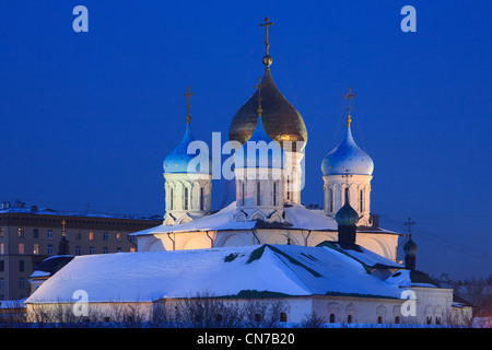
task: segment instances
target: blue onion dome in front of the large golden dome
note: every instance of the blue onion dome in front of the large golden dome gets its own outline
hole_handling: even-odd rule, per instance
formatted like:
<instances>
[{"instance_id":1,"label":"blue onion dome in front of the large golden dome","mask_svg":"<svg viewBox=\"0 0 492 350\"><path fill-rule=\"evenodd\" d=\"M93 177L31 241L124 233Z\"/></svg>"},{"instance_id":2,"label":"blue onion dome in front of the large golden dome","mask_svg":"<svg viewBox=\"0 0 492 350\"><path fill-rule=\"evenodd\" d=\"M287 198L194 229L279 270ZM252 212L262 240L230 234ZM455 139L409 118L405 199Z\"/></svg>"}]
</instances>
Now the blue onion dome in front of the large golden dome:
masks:
<instances>
[{"instance_id":1,"label":"blue onion dome in front of the large golden dome","mask_svg":"<svg viewBox=\"0 0 492 350\"><path fill-rule=\"evenodd\" d=\"M251 137L234 153L235 167L283 168L284 151L265 131L262 117L257 119Z\"/></svg>"}]
</instances>

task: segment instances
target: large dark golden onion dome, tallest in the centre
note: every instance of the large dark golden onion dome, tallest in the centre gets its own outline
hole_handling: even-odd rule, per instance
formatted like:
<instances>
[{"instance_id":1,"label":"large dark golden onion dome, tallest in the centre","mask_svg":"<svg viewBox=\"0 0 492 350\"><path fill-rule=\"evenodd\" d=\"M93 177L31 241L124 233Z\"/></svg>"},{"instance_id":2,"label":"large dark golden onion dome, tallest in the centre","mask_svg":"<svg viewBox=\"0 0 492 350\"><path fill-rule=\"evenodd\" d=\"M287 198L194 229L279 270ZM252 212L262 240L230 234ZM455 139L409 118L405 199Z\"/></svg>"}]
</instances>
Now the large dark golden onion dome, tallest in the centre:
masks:
<instances>
[{"instance_id":1,"label":"large dark golden onion dome, tallest in the centre","mask_svg":"<svg viewBox=\"0 0 492 350\"><path fill-rule=\"evenodd\" d=\"M279 141L285 151L302 151L307 142L307 130L303 117L277 89L269 65L266 66L261 81L261 116L265 130L272 140ZM245 143L255 131L257 120L258 91L237 110L231 122L229 139ZM296 144L297 141L302 144Z\"/></svg>"}]
</instances>

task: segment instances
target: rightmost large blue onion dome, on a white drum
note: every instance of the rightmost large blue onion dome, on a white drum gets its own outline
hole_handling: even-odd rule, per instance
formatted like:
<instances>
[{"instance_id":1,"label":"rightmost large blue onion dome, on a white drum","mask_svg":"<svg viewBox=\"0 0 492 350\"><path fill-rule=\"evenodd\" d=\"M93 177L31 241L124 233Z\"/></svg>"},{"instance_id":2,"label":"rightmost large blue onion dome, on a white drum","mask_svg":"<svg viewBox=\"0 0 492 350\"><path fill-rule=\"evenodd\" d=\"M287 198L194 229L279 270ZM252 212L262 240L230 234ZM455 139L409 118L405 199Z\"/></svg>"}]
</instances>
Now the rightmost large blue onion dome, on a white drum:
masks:
<instances>
[{"instance_id":1,"label":"rightmost large blue onion dome, on a white drum","mask_svg":"<svg viewBox=\"0 0 492 350\"><path fill-rule=\"evenodd\" d=\"M323 175L372 175L374 162L353 140L350 126L343 141L323 160Z\"/></svg>"}]
</instances>

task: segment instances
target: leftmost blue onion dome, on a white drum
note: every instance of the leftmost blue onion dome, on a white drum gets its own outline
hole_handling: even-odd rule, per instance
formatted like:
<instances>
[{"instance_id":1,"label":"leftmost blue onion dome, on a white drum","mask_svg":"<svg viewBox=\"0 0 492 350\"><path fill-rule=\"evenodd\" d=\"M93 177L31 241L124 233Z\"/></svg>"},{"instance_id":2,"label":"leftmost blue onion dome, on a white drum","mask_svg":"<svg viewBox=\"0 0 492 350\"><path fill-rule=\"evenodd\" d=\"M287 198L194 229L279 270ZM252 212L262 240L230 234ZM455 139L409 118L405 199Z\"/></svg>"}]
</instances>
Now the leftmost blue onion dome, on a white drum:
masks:
<instances>
[{"instance_id":1,"label":"leftmost blue onion dome, on a white drum","mask_svg":"<svg viewBox=\"0 0 492 350\"><path fill-rule=\"evenodd\" d=\"M183 137L181 142L164 159L163 167L165 174L181 174L188 173L188 164L189 162L197 156L197 154L191 153L188 154L188 145L195 141L195 138L191 133L191 128L189 122L186 125L185 135ZM191 173L197 174L211 174L212 173L212 160L209 156L209 168L201 171L200 163L197 162L197 165Z\"/></svg>"}]
</instances>

